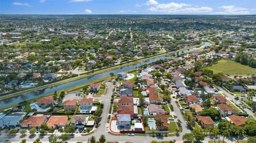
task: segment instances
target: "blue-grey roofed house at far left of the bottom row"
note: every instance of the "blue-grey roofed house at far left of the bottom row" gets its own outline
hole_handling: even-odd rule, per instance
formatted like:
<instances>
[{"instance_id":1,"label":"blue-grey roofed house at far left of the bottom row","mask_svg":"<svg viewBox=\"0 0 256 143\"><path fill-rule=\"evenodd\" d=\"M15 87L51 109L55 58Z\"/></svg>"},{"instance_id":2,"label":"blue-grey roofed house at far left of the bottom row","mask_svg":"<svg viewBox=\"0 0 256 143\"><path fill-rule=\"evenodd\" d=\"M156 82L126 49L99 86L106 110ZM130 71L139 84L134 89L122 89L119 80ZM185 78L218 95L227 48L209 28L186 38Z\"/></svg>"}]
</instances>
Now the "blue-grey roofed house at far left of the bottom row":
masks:
<instances>
[{"instance_id":1,"label":"blue-grey roofed house at far left of the bottom row","mask_svg":"<svg viewBox=\"0 0 256 143\"><path fill-rule=\"evenodd\" d=\"M16 112L16 113L3 116L0 119L0 128L3 129L5 127L9 127L9 128L17 127L25 115L26 113Z\"/></svg>"}]
</instances>

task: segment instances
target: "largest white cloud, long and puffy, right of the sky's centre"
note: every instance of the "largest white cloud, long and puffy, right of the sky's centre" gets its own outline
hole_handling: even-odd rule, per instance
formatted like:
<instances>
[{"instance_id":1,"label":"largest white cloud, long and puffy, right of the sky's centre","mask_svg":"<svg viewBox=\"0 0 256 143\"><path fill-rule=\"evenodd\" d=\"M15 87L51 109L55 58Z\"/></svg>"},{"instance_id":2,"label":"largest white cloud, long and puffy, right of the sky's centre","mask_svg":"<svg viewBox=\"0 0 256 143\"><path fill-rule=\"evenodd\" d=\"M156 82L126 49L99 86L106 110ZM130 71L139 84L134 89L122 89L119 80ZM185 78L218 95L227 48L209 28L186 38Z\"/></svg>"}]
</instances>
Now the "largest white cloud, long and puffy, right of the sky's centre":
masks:
<instances>
[{"instance_id":1,"label":"largest white cloud, long and puffy, right of the sky's centre","mask_svg":"<svg viewBox=\"0 0 256 143\"><path fill-rule=\"evenodd\" d=\"M211 12L213 9L206 6L196 6L191 7L189 4L185 3L167 3L167 4L157 4L153 7L147 9L152 12L165 12L165 13L202 13L202 12Z\"/></svg>"}]
</instances>

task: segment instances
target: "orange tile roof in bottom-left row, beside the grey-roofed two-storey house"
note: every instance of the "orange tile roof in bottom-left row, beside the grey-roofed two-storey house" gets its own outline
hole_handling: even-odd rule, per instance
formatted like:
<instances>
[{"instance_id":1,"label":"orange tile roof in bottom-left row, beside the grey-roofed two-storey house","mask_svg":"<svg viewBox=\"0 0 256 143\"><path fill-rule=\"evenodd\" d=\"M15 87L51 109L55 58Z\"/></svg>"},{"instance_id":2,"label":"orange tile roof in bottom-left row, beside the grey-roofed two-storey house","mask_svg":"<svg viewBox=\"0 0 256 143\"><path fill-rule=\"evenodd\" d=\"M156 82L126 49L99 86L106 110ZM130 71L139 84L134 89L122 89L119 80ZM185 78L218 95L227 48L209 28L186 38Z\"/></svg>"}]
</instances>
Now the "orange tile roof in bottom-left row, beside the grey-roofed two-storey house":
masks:
<instances>
[{"instance_id":1,"label":"orange tile roof in bottom-left row, beside the grey-roofed two-storey house","mask_svg":"<svg viewBox=\"0 0 256 143\"><path fill-rule=\"evenodd\" d=\"M66 125L68 123L68 116L51 116L46 122L48 127L55 127L55 125Z\"/></svg>"}]
</instances>

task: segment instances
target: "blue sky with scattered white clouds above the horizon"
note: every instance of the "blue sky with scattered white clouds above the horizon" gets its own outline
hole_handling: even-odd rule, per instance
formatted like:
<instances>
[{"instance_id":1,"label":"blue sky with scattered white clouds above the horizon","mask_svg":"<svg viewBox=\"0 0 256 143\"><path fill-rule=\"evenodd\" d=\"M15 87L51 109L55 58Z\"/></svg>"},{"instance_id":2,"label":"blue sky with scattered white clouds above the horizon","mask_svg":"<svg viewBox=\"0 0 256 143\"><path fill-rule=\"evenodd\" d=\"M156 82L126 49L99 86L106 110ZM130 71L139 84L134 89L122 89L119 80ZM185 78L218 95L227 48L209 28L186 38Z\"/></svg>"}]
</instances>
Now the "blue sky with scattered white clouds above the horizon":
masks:
<instances>
[{"instance_id":1,"label":"blue sky with scattered white clouds above the horizon","mask_svg":"<svg viewBox=\"0 0 256 143\"><path fill-rule=\"evenodd\" d=\"M256 14L256 0L0 0L0 14Z\"/></svg>"}]
</instances>

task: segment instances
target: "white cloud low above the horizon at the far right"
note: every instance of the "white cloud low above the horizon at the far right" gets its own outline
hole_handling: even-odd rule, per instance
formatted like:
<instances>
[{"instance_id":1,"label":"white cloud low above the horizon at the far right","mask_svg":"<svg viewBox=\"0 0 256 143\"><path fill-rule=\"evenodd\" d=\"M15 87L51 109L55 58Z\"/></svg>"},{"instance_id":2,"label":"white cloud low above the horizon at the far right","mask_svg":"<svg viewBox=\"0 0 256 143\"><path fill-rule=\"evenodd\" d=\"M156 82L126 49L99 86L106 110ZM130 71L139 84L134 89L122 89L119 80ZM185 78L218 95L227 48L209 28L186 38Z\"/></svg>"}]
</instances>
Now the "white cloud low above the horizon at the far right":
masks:
<instances>
[{"instance_id":1,"label":"white cloud low above the horizon at the far right","mask_svg":"<svg viewBox=\"0 0 256 143\"><path fill-rule=\"evenodd\" d=\"M250 14L249 9L242 7L235 7L234 5L222 5L218 7L223 9L223 12L215 12L215 14Z\"/></svg>"}]
</instances>

